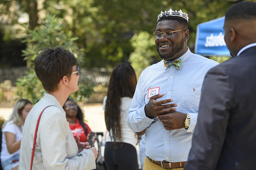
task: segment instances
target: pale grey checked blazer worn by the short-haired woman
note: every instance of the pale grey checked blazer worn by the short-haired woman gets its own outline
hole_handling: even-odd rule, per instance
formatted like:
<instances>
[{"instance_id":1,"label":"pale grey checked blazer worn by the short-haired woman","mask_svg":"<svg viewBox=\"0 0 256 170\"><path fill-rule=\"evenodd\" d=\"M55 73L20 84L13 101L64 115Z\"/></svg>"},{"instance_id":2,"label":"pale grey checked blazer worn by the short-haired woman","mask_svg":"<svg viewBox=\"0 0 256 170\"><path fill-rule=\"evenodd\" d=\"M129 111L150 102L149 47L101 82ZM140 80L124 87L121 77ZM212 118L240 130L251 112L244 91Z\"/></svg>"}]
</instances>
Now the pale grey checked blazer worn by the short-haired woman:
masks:
<instances>
[{"instance_id":1,"label":"pale grey checked blazer worn by the short-haired woman","mask_svg":"<svg viewBox=\"0 0 256 170\"><path fill-rule=\"evenodd\" d=\"M44 93L44 97L29 112L23 127L19 170L30 169L36 123L46 106L51 107L44 110L39 122L32 169L95 169L94 153L88 149L78 153L65 111L55 97Z\"/></svg>"}]
</instances>

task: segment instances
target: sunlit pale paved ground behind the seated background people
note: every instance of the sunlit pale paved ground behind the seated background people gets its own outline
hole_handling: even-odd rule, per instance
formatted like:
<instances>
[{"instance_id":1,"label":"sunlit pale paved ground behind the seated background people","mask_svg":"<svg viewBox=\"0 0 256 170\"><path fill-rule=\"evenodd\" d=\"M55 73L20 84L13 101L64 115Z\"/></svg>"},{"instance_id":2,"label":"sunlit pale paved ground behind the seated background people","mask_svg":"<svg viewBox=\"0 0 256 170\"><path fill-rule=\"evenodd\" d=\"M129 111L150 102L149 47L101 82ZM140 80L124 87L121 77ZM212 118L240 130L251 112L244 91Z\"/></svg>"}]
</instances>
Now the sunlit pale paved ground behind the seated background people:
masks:
<instances>
[{"instance_id":1,"label":"sunlit pale paved ground behind the seated background people","mask_svg":"<svg viewBox=\"0 0 256 170\"><path fill-rule=\"evenodd\" d=\"M82 109L84 110L86 123L93 132L107 131L102 104L90 104L82 107ZM0 108L0 116L3 116L4 120L8 120L11 113L12 108Z\"/></svg>"}]
</instances>

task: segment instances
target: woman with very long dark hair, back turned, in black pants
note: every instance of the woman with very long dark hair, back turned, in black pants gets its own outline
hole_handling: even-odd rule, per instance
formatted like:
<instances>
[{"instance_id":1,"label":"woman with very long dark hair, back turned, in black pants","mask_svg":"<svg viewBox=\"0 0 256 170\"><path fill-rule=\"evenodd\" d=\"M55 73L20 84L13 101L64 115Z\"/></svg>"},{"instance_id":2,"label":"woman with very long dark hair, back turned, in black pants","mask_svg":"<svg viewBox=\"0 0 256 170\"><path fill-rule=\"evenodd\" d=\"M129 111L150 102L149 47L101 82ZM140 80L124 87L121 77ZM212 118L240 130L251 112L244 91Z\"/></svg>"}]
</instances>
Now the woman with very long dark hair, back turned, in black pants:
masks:
<instances>
[{"instance_id":1,"label":"woman with very long dark hair, back turned, in black pants","mask_svg":"<svg viewBox=\"0 0 256 170\"><path fill-rule=\"evenodd\" d=\"M128 63L117 65L111 73L108 94L103 101L109 131L104 152L108 170L138 169L137 137L126 121L136 84L136 74Z\"/></svg>"}]
</instances>

